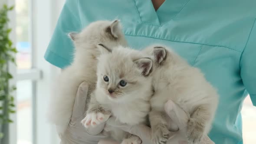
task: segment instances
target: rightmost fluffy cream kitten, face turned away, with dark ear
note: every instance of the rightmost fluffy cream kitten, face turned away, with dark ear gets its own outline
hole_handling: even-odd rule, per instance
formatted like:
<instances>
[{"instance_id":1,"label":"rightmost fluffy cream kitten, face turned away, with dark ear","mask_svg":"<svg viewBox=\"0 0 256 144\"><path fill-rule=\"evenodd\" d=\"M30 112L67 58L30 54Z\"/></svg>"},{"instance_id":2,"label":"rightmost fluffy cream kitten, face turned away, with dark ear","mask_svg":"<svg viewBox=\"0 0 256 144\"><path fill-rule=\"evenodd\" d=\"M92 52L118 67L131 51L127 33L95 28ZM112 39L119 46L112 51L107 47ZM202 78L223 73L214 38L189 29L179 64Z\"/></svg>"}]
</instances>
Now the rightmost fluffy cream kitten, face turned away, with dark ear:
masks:
<instances>
[{"instance_id":1,"label":"rightmost fluffy cream kitten, face turned away, with dark ear","mask_svg":"<svg viewBox=\"0 0 256 144\"><path fill-rule=\"evenodd\" d=\"M177 103L190 117L187 124L187 137L197 143L210 131L217 109L218 95L204 78L199 69L190 66L184 59L169 48L150 46L144 52L153 56L154 95L151 98L149 120L152 140L155 144L165 144L170 131L175 131L171 119L164 111L168 100Z\"/></svg>"}]
</instances>

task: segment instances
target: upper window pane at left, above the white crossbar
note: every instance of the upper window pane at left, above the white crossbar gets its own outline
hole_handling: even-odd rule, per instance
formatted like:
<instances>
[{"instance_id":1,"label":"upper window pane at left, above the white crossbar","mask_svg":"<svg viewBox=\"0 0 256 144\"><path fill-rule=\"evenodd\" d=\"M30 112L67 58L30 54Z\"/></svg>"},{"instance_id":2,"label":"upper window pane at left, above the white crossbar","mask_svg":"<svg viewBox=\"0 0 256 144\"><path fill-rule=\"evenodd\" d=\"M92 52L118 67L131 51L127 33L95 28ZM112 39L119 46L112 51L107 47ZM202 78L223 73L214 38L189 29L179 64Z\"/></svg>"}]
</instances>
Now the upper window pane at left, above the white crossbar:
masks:
<instances>
[{"instance_id":1,"label":"upper window pane at left, above the white crossbar","mask_svg":"<svg viewBox=\"0 0 256 144\"><path fill-rule=\"evenodd\" d=\"M18 69L31 68L31 46L29 42L29 0L16 0L16 62Z\"/></svg>"}]
</instances>

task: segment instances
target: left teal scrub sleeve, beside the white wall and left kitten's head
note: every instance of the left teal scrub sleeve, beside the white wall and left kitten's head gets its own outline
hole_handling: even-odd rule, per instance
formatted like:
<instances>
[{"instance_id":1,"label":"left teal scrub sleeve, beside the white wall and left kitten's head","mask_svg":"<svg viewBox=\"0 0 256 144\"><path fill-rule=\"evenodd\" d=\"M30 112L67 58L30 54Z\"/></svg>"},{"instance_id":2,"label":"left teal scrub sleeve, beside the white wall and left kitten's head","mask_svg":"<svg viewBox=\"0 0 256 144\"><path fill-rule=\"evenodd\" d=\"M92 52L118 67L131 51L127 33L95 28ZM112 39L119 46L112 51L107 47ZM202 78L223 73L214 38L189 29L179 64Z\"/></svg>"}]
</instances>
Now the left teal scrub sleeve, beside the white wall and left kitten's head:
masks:
<instances>
[{"instance_id":1,"label":"left teal scrub sleeve, beside the white wall and left kitten's head","mask_svg":"<svg viewBox=\"0 0 256 144\"><path fill-rule=\"evenodd\" d=\"M66 0L44 58L62 69L70 65L74 46L68 34L81 28L78 0Z\"/></svg>"}]
</instances>

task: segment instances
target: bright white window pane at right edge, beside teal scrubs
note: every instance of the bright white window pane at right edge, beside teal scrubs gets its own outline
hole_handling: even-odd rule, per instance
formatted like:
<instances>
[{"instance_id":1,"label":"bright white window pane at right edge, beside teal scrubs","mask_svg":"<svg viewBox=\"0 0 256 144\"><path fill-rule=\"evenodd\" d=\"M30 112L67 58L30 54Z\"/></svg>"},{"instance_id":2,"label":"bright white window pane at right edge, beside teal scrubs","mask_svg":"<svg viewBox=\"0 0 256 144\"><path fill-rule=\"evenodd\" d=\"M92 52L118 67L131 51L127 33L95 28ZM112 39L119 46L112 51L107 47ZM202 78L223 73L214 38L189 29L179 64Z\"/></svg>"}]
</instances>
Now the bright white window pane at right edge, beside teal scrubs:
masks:
<instances>
[{"instance_id":1,"label":"bright white window pane at right edge, beside teal scrubs","mask_svg":"<svg viewBox=\"0 0 256 144\"><path fill-rule=\"evenodd\" d=\"M253 106L249 96L247 96L242 108L243 118L243 143L255 144L256 142L256 107Z\"/></svg>"}]
</instances>

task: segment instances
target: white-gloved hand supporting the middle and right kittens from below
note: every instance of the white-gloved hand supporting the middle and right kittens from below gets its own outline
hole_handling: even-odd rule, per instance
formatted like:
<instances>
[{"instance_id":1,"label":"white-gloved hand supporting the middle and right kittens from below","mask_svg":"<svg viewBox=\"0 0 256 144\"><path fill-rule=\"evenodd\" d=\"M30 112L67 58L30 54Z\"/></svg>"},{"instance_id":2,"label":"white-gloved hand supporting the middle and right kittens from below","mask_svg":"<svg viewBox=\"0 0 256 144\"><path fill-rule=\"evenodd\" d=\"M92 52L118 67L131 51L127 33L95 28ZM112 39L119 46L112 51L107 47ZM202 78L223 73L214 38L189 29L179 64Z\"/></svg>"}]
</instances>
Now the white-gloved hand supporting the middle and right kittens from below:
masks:
<instances>
[{"instance_id":1,"label":"white-gloved hand supporting the middle and right kittens from below","mask_svg":"<svg viewBox=\"0 0 256 144\"><path fill-rule=\"evenodd\" d=\"M167 144L188 144L186 136L188 116L185 111L171 100L165 104L165 111L170 116L171 120L175 124L177 124L179 128L179 131L172 132L172 136L170 137L170 140L167 141ZM140 124L130 126L127 124L121 124L119 121L116 121L116 118L111 117L106 122L106 126L121 128L124 131L135 134L141 138L142 144L153 144L151 142L151 128L145 125ZM203 137L203 140L200 144L215 143L211 141L210 138L206 135L205 137Z\"/></svg>"}]
</instances>

